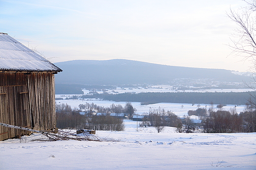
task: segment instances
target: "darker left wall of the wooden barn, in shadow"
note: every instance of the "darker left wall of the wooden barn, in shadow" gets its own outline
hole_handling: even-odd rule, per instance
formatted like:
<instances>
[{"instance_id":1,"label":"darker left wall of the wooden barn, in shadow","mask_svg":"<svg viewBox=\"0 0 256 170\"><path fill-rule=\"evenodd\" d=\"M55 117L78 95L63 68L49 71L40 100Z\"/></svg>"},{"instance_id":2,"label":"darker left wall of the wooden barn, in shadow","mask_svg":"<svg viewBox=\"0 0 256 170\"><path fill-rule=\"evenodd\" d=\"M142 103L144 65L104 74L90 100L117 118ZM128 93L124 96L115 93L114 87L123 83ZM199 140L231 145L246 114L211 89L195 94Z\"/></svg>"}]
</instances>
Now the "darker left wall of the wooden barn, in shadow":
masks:
<instances>
[{"instance_id":1,"label":"darker left wall of the wooden barn, in shadow","mask_svg":"<svg viewBox=\"0 0 256 170\"><path fill-rule=\"evenodd\" d=\"M0 73L0 122L31 128L27 75L24 73ZM0 126L0 140L28 131Z\"/></svg>"}]
</instances>

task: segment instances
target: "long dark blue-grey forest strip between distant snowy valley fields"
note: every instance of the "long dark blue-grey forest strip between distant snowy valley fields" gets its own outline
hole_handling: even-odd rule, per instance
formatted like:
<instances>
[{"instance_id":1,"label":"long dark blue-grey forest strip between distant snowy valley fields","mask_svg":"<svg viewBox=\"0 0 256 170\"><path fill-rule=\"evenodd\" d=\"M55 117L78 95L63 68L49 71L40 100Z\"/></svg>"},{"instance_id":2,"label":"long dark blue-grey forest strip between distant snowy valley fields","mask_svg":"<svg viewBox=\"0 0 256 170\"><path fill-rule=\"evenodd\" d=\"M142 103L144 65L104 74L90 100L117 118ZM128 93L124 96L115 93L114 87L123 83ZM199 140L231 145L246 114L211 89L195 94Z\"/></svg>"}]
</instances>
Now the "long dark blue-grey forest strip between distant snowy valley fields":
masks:
<instances>
[{"instance_id":1,"label":"long dark blue-grey forest strip between distant snowy valley fields","mask_svg":"<svg viewBox=\"0 0 256 170\"><path fill-rule=\"evenodd\" d=\"M160 102L169 103L205 103L210 104L236 104L242 105L250 98L250 94L247 92L215 92L215 93L186 93L186 92L167 92L167 93L123 93L123 94L94 94L84 95L82 98L103 98L104 100L112 101L129 101L129 102L141 102L141 104L154 104Z\"/></svg>"}]
</instances>

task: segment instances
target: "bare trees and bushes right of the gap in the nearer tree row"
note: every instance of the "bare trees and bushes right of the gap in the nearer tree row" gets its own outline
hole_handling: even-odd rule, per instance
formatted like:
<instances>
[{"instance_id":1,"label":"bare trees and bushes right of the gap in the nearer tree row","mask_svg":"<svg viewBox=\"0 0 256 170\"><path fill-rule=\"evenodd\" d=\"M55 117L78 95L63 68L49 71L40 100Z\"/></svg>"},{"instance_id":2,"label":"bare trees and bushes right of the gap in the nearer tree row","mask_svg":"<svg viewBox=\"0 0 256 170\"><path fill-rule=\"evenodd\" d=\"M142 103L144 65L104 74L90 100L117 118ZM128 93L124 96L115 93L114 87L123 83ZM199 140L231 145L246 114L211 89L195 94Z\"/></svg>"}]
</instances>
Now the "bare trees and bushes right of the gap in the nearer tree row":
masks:
<instances>
[{"instance_id":1,"label":"bare trees and bushes right of the gap in the nearer tree row","mask_svg":"<svg viewBox=\"0 0 256 170\"><path fill-rule=\"evenodd\" d=\"M237 113L236 107L226 111L224 105L218 106L214 108L211 104L208 110L198 106L196 110L189 110L188 116L183 118L171 111L150 108L140 126L154 126L158 133L165 126L176 127L179 133L193 133L196 129L205 133L256 132L256 108L253 105L246 104L245 110L240 113ZM190 116L198 116L201 123L195 125Z\"/></svg>"}]
</instances>

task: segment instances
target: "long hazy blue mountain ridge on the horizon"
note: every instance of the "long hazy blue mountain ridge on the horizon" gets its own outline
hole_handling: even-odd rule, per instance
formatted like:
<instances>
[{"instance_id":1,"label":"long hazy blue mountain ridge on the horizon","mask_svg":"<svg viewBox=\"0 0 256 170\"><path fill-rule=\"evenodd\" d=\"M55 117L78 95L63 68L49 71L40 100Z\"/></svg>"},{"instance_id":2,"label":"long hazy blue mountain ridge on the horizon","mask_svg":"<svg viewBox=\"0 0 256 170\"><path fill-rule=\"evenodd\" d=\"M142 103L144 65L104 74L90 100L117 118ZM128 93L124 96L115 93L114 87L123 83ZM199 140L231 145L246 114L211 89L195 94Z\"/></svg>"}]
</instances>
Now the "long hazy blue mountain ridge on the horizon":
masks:
<instances>
[{"instance_id":1,"label":"long hazy blue mountain ridge on the horizon","mask_svg":"<svg viewBox=\"0 0 256 170\"><path fill-rule=\"evenodd\" d=\"M250 78L224 69L167 66L126 59L72 60L55 63L63 70L56 83L84 85L169 84L177 78L243 82Z\"/></svg>"}]
</instances>

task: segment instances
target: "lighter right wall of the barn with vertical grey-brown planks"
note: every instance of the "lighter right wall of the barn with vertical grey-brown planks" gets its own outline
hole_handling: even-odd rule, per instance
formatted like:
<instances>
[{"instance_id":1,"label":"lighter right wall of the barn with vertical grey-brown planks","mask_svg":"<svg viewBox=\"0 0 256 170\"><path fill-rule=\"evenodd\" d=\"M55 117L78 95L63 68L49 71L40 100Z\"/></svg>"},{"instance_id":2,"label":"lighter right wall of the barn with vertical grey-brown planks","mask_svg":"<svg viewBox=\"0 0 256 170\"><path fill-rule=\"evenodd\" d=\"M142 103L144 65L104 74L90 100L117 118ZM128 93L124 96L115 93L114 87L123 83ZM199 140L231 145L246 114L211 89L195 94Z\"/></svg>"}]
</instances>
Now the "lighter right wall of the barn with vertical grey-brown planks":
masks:
<instances>
[{"instance_id":1,"label":"lighter right wall of the barn with vertical grey-brown planks","mask_svg":"<svg viewBox=\"0 0 256 170\"><path fill-rule=\"evenodd\" d=\"M48 130L56 125L55 86L53 73L28 75L32 126L35 130Z\"/></svg>"}]
</instances>

